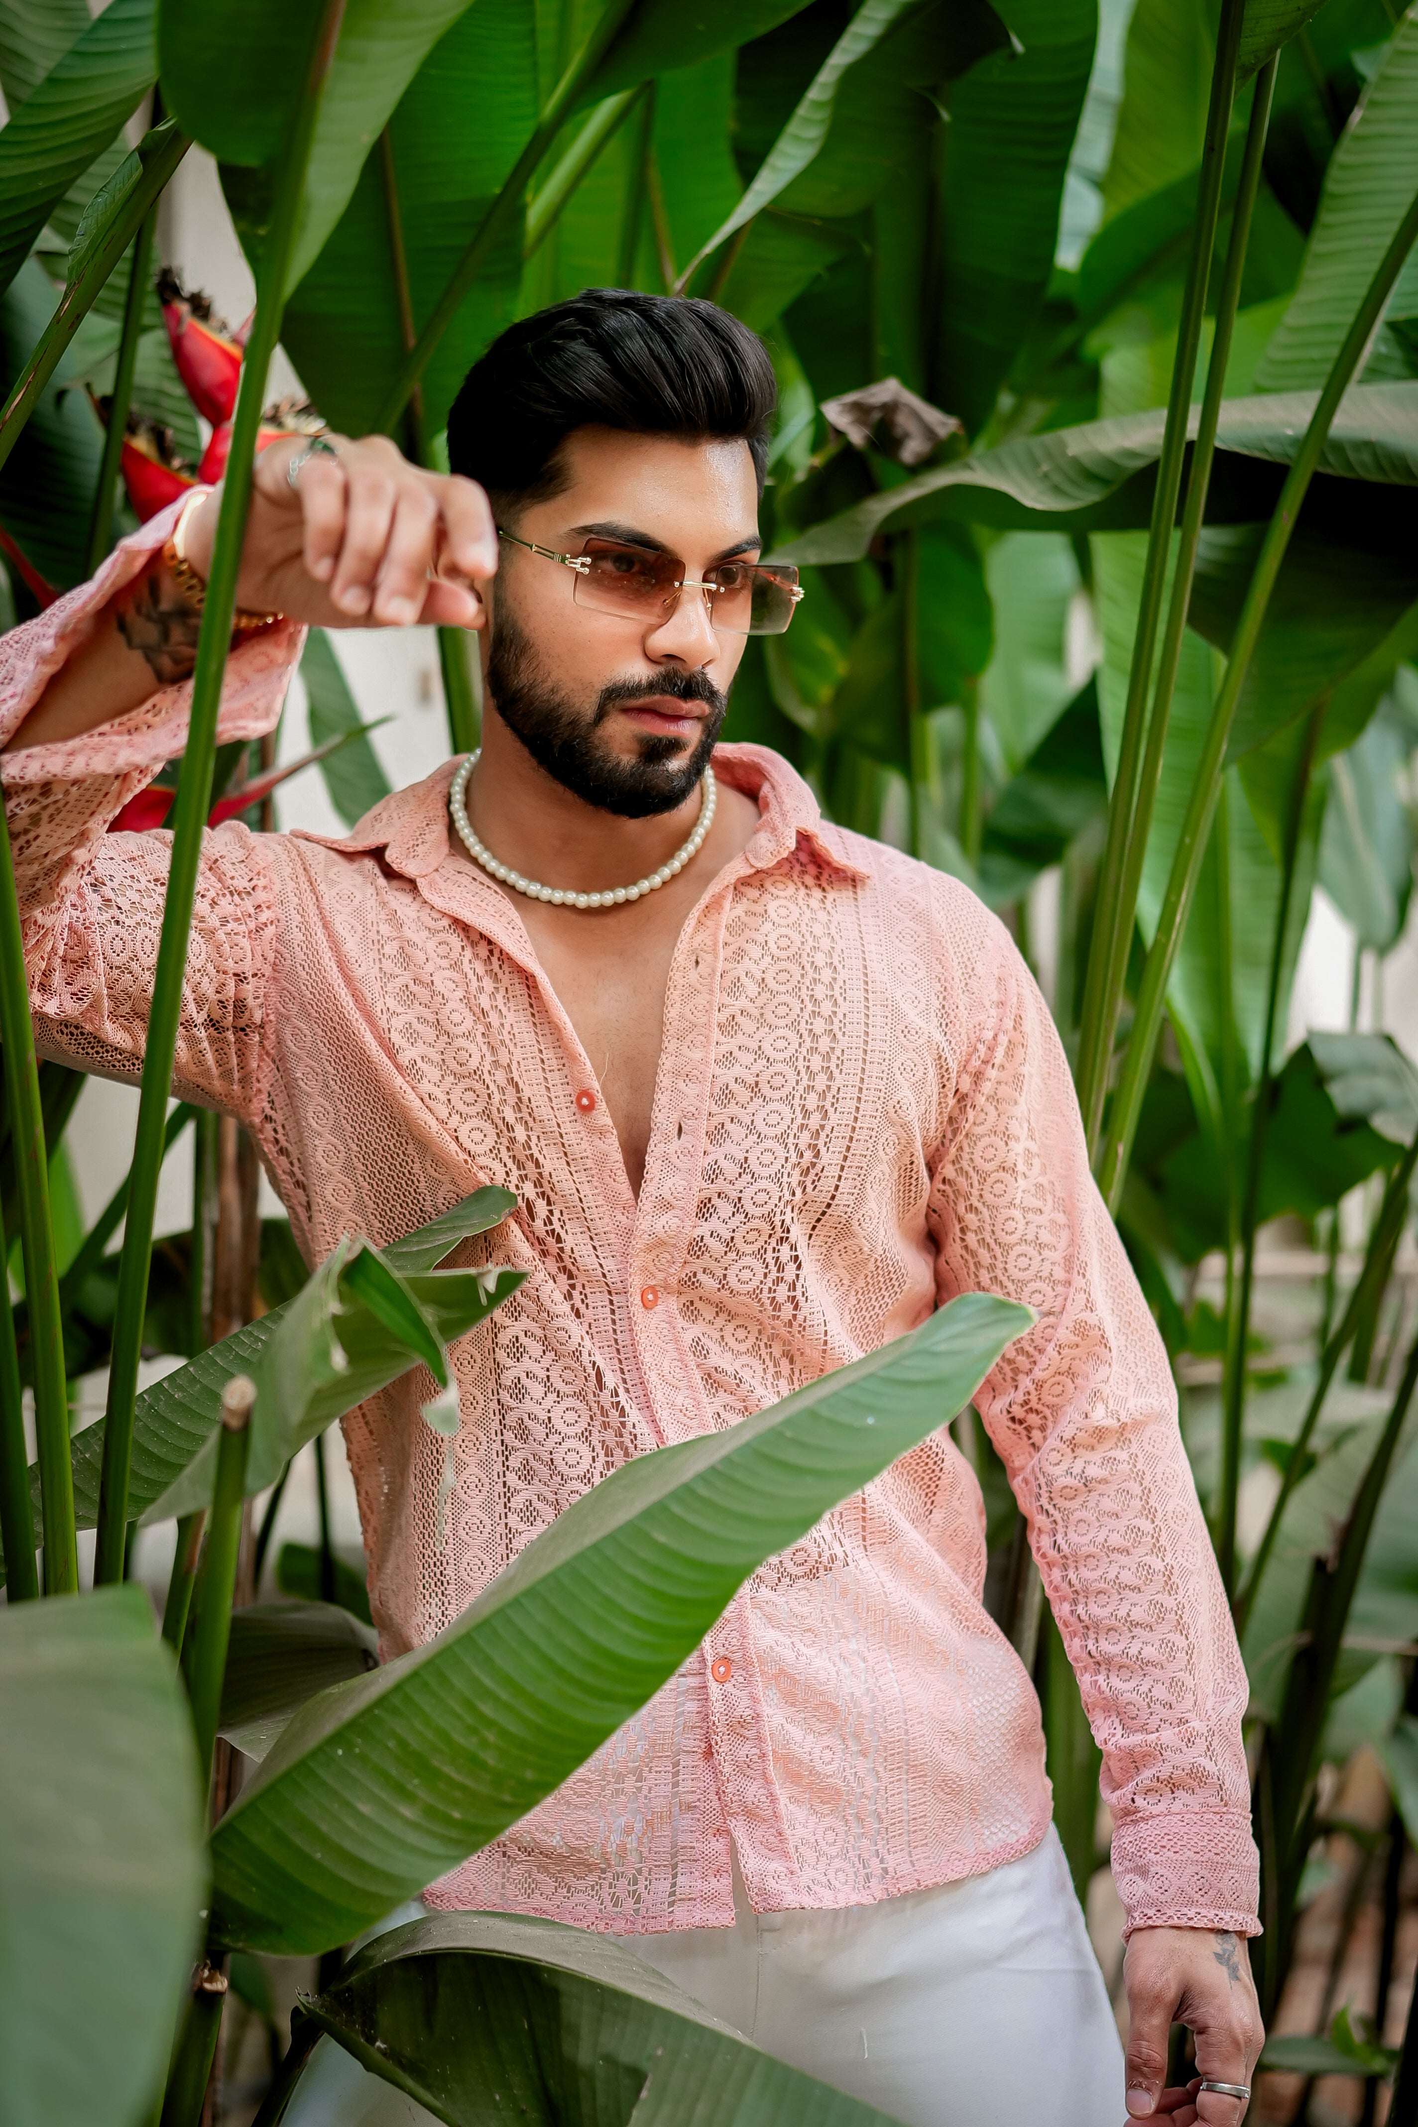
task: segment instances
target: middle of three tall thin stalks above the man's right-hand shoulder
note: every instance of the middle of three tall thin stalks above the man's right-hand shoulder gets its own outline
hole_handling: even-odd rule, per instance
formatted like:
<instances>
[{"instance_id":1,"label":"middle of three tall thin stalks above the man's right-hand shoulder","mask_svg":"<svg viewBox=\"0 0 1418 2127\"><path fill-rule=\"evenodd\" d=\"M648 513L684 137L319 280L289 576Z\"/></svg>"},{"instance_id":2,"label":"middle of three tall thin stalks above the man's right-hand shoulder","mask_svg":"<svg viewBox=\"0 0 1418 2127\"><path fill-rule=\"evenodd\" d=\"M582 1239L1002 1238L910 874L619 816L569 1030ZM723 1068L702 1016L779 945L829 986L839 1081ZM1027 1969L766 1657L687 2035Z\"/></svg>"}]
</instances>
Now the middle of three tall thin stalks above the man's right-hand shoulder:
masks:
<instances>
[{"instance_id":1,"label":"middle of three tall thin stalks above the man's right-hand shoulder","mask_svg":"<svg viewBox=\"0 0 1418 2127\"><path fill-rule=\"evenodd\" d=\"M1261 162L1265 155L1265 134L1269 128L1271 98L1276 94L1278 62L1280 53L1273 53L1273 57L1267 60L1267 64L1261 68L1256 77L1254 102L1250 106L1250 125L1246 130L1246 153L1242 160L1242 177L1235 194L1235 213L1231 217L1227 270L1222 274L1220 298L1216 304L1216 334L1212 338L1212 359L1205 372L1205 393L1201 400L1201 415L1197 421L1197 442L1193 447L1191 474L1186 479L1186 504L1182 508L1182 532L1178 538L1176 568L1171 574L1171 604L1167 608L1167 630L1163 634L1163 651L1157 670L1152 717L1148 721L1148 740L1142 757L1142 770L1137 774L1133 817L1127 825L1127 838L1122 847L1122 878L1116 887L1118 895L1116 908L1112 912L1110 929L1103 940L1108 947L1105 991L1099 1006L1101 1017L1093 1027L1093 1038L1097 1042L1103 1066L1112 1057L1112 1042L1118 1029L1118 1012L1122 1008L1122 985L1127 981L1127 957L1133 942L1133 923L1137 919L1137 895L1142 891L1142 868L1148 855L1148 834L1152 832L1152 808L1157 804L1157 791L1163 778L1163 755L1167 751L1171 698L1176 693L1178 670L1182 666L1186 615L1191 610L1191 591L1197 574L1197 549L1201 545L1205 498L1212 485L1212 462L1216 457L1216 430L1220 425L1220 406L1227 396L1227 364L1231 359L1235 313L1242 300L1242 274L1246 270L1250 217L1254 213L1256 191L1261 185ZM1112 834L1112 819L1108 821L1108 827ZM1088 974L1093 974L1093 961L1088 961ZM1097 1136L1097 1125L1091 1132L1091 1142L1095 1140L1095 1136Z\"/></svg>"}]
</instances>

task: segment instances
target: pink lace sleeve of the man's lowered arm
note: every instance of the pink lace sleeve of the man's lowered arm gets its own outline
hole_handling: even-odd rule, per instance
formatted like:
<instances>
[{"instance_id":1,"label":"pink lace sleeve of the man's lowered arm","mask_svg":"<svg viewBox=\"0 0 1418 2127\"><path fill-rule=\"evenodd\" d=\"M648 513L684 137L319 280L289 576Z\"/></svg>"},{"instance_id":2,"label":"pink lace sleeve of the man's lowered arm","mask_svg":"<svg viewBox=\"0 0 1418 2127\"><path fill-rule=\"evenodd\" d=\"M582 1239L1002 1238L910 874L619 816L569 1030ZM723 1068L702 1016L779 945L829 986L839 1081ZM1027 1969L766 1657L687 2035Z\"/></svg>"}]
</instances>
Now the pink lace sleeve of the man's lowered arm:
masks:
<instances>
[{"instance_id":1,"label":"pink lace sleeve of the man's lowered arm","mask_svg":"<svg viewBox=\"0 0 1418 2127\"><path fill-rule=\"evenodd\" d=\"M938 1283L942 1300L984 1289L1040 1317L976 1404L1103 1751L1129 1931L1259 1933L1246 1670L1171 1372L1088 1172L1048 1006L993 919L963 1002Z\"/></svg>"}]
</instances>

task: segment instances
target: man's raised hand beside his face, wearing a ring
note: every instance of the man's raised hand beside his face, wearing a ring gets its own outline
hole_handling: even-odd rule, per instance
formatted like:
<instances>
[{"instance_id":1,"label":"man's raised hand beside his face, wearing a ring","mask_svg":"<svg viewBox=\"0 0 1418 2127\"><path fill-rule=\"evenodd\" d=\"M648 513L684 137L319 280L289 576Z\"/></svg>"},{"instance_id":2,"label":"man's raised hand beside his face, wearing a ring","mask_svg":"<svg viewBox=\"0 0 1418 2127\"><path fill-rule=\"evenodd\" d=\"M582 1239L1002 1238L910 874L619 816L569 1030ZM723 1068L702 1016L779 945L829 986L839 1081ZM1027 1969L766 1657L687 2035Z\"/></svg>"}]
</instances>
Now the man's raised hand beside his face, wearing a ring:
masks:
<instances>
[{"instance_id":1,"label":"man's raised hand beside his face, wearing a ring","mask_svg":"<svg viewBox=\"0 0 1418 2127\"><path fill-rule=\"evenodd\" d=\"M287 466L306 436L272 442L255 462L236 604L285 613L315 627L408 627L415 621L480 627L474 589L497 570L487 496L459 474L425 472L389 442L330 438L296 476ZM221 487L200 502L183 547L210 574Z\"/></svg>"}]
</instances>

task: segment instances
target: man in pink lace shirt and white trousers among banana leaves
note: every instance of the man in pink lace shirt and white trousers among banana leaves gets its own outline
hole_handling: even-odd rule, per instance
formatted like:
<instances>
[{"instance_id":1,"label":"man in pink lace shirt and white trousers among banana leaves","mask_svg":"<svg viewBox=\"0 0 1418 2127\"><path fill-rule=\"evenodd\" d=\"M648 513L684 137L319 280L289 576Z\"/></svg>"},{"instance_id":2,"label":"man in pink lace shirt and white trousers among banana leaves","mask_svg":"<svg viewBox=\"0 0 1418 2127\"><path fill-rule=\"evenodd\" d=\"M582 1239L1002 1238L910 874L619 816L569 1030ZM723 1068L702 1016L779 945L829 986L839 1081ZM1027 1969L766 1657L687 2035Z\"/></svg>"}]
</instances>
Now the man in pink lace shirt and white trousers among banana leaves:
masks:
<instances>
[{"instance_id":1,"label":"man in pink lace shirt and white trousers among banana leaves","mask_svg":"<svg viewBox=\"0 0 1418 2127\"><path fill-rule=\"evenodd\" d=\"M457 1353L446 1517L417 1383L347 1423L387 1653L629 1455L955 1291L1027 1300L978 1408L1105 1753L1127 2099L944 1431L755 1574L429 1904L621 1933L918 2127L1099 2127L1122 2101L1235 2127L1261 2036L1246 1682L1048 1010L961 883L823 823L765 749L714 751L744 632L793 615L789 576L753 574L772 411L725 313L591 291L478 362L451 479L383 438L259 457L238 602L285 619L238 632L221 736L272 725L304 623L423 619L483 634L483 751L342 840L208 838L176 1083L253 1129L310 1259L480 1183L519 1198L487 1253L531 1276ZM157 519L6 638L40 1036L115 1076L168 840L104 827L181 751L215 519L215 493L176 545ZM1237 2095L1163 2093L1174 2019Z\"/></svg>"}]
</instances>

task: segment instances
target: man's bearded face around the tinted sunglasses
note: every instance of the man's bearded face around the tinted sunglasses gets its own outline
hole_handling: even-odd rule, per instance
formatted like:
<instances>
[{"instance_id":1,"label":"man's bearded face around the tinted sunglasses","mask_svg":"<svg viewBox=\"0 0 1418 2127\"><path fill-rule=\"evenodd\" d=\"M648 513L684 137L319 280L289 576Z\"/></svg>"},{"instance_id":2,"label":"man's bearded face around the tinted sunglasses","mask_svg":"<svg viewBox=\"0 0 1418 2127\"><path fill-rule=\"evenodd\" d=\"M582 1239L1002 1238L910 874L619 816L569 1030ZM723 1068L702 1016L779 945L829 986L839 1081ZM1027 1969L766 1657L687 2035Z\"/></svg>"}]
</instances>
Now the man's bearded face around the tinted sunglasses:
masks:
<instances>
[{"instance_id":1,"label":"man's bearded face around the tinted sunglasses","mask_svg":"<svg viewBox=\"0 0 1418 2127\"><path fill-rule=\"evenodd\" d=\"M668 553L702 581L757 562L757 481L746 442L682 442L576 430L568 485L504 519L553 553L591 540ZM576 572L502 540L489 587L487 685L504 723L559 783L606 813L642 819L682 804L723 725L744 636L710 625L685 589L668 615L578 604Z\"/></svg>"}]
</instances>

